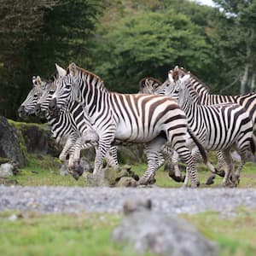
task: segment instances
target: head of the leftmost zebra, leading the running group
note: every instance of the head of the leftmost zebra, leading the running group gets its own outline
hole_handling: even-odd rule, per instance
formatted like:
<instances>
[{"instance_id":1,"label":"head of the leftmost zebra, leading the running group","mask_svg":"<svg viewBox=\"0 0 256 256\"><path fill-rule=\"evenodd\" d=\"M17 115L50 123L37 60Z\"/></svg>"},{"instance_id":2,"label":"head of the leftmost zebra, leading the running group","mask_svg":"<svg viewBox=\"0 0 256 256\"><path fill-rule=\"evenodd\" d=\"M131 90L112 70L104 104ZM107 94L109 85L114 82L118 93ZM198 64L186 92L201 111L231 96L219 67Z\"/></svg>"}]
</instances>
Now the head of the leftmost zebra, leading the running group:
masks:
<instances>
[{"instance_id":1,"label":"head of the leftmost zebra, leading the running group","mask_svg":"<svg viewBox=\"0 0 256 256\"><path fill-rule=\"evenodd\" d=\"M32 77L32 90L26 96L26 100L20 105L18 109L19 116L25 116L34 113L38 99L42 96L45 87L45 81L39 76Z\"/></svg>"}]
</instances>

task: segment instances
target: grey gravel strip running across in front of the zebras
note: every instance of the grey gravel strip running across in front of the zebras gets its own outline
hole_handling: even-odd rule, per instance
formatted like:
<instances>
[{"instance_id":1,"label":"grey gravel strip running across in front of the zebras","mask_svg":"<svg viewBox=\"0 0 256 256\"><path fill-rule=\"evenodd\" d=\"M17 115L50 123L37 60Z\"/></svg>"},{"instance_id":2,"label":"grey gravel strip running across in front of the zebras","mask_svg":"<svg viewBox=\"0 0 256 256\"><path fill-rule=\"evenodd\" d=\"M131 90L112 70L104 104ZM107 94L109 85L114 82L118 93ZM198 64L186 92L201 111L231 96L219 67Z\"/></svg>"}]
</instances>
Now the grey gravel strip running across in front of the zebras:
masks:
<instances>
[{"instance_id":1,"label":"grey gravel strip running across in front of the zebras","mask_svg":"<svg viewBox=\"0 0 256 256\"><path fill-rule=\"evenodd\" d=\"M236 214L239 206L256 209L256 189L160 189L107 187L0 186L0 211L122 212L125 200L151 199L153 210L194 214Z\"/></svg>"}]
</instances>

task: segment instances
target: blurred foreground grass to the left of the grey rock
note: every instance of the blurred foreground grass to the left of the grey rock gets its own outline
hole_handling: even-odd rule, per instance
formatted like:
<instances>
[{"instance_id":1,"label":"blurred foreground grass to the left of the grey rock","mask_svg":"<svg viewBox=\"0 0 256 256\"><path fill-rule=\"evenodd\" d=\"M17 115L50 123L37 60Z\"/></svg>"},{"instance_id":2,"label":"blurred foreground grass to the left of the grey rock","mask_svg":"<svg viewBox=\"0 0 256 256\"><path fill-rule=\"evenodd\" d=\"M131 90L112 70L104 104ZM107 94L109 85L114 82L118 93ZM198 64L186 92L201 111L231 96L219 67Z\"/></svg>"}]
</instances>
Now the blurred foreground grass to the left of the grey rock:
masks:
<instances>
[{"instance_id":1,"label":"blurred foreground grass to the left of the grey rock","mask_svg":"<svg viewBox=\"0 0 256 256\"><path fill-rule=\"evenodd\" d=\"M25 216L0 219L0 255L136 255L110 241L117 215Z\"/></svg>"}]
</instances>

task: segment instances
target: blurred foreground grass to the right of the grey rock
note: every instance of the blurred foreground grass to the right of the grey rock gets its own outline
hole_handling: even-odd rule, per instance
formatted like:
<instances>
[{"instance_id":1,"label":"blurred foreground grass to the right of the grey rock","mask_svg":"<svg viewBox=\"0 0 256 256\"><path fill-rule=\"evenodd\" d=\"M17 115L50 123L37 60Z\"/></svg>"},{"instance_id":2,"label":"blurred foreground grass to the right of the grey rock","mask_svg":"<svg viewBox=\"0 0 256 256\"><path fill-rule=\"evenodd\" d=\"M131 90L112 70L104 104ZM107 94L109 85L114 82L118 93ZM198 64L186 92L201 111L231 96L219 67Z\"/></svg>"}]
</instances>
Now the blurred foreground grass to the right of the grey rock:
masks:
<instances>
[{"instance_id":1,"label":"blurred foreground grass to the right of the grey rock","mask_svg":"<svg viewBox=\"0 0 256 256\"><path fill-rule=\"evenodd\" d=\"M183 216L220 247L220 256L256 255L256 212L238 209L235 218L224 218L218 212Z\"/></svg>"}]
</instances>

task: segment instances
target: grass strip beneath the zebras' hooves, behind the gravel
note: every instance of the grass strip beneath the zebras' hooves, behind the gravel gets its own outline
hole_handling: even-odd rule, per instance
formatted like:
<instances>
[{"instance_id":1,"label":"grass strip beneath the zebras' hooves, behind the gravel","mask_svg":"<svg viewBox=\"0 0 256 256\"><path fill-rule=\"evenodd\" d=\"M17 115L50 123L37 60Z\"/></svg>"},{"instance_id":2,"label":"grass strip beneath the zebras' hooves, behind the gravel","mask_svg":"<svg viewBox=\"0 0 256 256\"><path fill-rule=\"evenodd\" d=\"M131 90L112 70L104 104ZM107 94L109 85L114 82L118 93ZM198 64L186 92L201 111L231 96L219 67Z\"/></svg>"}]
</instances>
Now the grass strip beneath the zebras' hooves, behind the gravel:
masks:
<instances>
[{"instance_id":1,"label":"grass strip beneath the zebras' hooves, behind the gravel","mask_svg":"<svg viewBox=\"0 0 256 256\"><path fill-rule=\"evenodd\" d=\"M86 182L82 177L79 178L79 181L76 181L71 176L61 176L59 166L60 161L56 158L44 155L44 157L38 159L37 155L29 154L28 166L23 168L19 175L9 177L9 179L15 179L20 185L24 186L86 186ZM134 164L131 167L132 170L141 177L147 166L145 164ZM211 173L203 164L198 165L198 174L201 182L200 188L218 187L223 180L222 177L217 176L214 180L214 184L207 186L205 183ZM180 188L183 184L173 181L172 178L168 176L168 172L164 172L164 167L162 166L160 170L156 172L156 185L163 188ZM241 172L239 188L256 188L255 164L247 162L244 166Z\"/></svg>"}]
</instances>

